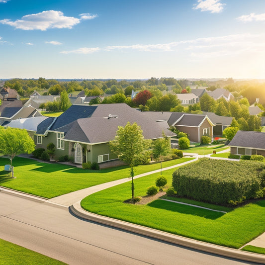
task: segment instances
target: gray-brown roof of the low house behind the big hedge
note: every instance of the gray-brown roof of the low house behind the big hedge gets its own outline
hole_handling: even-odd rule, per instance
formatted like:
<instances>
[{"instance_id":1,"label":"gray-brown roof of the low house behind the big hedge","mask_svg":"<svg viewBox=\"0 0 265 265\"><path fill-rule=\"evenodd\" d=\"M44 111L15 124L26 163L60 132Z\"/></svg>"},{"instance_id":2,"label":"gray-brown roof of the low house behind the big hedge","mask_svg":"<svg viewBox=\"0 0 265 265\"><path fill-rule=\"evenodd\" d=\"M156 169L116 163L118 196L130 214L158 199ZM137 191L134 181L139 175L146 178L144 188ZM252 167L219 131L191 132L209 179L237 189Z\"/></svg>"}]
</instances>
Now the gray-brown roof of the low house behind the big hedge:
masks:
<instances>
[{"instance_id":1,"label":"gray-brown roof of the low house behind the big hedge","mask_svg":"<svg viewBox=\"0 0 265 265\"><path fill-rule=\"evenodd\" d=\"M238 131L229 146L265 149L265 133L253 131Z\"/></svg>"}]
</instances>

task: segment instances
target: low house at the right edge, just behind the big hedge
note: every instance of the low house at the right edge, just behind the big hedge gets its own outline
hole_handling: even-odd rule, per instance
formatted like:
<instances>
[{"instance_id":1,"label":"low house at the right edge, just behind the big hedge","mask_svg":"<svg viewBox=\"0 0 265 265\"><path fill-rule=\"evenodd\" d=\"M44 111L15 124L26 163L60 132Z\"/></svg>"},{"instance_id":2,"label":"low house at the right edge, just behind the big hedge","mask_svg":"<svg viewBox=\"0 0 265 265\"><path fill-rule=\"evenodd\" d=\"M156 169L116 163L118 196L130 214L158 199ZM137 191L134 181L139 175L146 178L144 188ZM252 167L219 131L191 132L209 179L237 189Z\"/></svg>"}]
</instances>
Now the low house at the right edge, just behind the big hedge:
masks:
<instances>
[{"instance_id":1,"label":"low house at the right edge, just behind the big hedge","mask_svg":"<svg viewBox=\"0 0 265 265\"><path fill-rule=\"evenodd\" d=\"M233 155L265 156L265 133L238 131L228 146Z\"/></svg>"}]
</instances>

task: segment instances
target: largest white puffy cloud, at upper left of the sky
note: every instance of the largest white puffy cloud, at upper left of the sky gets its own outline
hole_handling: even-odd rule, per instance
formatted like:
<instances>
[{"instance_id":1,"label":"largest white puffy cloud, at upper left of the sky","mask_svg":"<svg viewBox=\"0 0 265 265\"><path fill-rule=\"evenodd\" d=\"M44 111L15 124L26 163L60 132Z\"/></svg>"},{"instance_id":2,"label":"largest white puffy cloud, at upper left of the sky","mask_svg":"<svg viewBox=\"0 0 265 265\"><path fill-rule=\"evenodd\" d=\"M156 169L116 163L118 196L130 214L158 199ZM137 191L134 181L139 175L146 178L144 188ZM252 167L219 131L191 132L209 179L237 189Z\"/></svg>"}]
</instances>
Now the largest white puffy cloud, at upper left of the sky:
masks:
<instances>
[{"instance_id":1,"label":"largest white puffy cloud, at upper left of the sky","mask_svg":"<svg viewBox=\"0 0 265 265\"><path fill-rule=\"evenodd\" d=\"M24 15L21 19L15 21L2 19L0 23L23 30L47 30L49 28L72 28L76 24L79 24L80 21L81 19L73 16L64 16L64 13L61 11L48 10L36 14Z\"/></svg>"}]
</instances>

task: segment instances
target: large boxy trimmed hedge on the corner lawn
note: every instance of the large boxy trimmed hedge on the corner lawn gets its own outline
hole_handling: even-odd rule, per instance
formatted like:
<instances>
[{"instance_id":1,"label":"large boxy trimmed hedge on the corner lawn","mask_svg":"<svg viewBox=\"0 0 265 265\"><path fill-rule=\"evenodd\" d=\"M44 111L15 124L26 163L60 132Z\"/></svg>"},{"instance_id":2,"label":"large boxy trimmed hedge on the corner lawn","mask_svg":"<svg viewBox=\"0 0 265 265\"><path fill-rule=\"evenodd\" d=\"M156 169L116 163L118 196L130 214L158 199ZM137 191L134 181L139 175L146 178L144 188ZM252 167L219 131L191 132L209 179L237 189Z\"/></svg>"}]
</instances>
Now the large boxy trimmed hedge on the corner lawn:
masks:
<instances>
[{"instance_id":1,"label":"large boxy trimmed hedge on the corner lawn","mask_svg":"<svg viewBox=\"0 0 265 265\"><path fill-rule=\"evenodd\" d=\"M265 164L253 161L200 159L177 169L172 185L178 196L221 205L257 198Z\"/></svg>"}]
</instances>

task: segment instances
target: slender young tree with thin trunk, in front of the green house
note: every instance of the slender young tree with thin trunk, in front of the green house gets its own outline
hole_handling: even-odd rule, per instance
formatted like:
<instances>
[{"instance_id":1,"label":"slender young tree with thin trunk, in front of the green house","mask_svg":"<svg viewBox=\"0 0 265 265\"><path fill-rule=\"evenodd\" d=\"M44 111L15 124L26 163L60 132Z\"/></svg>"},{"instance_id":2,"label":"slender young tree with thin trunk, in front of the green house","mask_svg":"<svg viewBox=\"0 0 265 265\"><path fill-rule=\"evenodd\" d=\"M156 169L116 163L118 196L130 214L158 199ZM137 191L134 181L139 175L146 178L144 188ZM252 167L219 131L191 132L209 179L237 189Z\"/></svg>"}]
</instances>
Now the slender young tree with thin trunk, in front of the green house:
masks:
<instances>
[{"instance_id":1,"label":"slender young tree with thin trunk, in front of the green house","mask_svg":"<svg viewBox=\"0 0 265 265\"><path fill-rule=\"evenodd\" d=\"M134 204L134 170L139 161L145 156L147 149L151 145L151 140L145 140L143 131L137 123L132 125L128 122L124 127L118 126L115 140L109 142L109 147L118 158L131 167L132 178L132 203Z\"/></svg>"}]
</instances>

